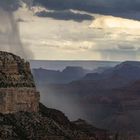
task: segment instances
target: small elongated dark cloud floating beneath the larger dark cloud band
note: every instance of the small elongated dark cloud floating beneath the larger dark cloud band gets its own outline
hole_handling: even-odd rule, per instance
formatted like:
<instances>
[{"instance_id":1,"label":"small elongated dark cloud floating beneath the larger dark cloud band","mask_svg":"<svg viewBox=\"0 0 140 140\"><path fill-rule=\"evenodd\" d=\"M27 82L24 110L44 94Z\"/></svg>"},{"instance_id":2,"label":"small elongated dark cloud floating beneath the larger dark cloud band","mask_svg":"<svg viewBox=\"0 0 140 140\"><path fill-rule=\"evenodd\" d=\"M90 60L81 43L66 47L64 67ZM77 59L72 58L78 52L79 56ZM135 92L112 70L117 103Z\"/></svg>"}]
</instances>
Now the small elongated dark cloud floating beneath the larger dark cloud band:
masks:
<instances>
[{"instance_id":1,"label":"small elongated dark cloud floating beneath the larger dark cloud band","mask_svg":"<svg viewBox=\"0 0 140 140\"><path fill-rule=\"evenodd\" d=\"M53 11L53 12L41 11L41 12L37 12L36 15L39 17L51 17L51 18L59 19L59 20L74 20L77 22L93 19L91 15L74 13L70 10Z\"/></svg>"}]
</instances>

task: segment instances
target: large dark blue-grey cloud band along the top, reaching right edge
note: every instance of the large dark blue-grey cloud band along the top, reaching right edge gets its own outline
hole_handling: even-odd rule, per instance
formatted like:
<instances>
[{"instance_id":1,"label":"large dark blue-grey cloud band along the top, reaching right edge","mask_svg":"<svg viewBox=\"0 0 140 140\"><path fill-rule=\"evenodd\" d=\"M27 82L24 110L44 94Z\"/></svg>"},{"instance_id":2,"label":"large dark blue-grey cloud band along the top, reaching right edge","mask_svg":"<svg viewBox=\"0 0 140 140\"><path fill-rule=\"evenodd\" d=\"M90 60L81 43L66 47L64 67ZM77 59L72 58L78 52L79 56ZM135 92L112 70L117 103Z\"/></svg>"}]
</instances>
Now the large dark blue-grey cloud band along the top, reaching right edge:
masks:
<instances>
[{"instance_id":1,"label":"large dark blue-grey cloud band along the top, reaching right edge","mask_svg":"<svg viewBox=\"0 0 140 140\"><path fill-rule=\"evenodd\" d=\"M99 14L109 14L125 18L140 19L135 14L140 12L140 0L34 0L48 9L75 9Z\"/></svg>"}]
</instances>

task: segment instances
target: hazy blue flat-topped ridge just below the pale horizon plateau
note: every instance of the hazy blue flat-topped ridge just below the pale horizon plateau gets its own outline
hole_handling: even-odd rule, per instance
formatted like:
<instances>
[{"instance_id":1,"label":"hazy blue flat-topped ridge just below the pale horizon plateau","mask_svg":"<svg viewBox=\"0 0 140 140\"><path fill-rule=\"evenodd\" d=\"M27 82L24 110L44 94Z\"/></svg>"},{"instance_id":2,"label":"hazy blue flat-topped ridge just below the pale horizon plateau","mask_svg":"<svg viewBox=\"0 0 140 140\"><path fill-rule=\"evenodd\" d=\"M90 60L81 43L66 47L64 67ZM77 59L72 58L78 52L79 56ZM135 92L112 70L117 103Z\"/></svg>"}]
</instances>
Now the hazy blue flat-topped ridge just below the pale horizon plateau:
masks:
<instances>
[{"instance_id":1,"label":"hazy blue flat-topped ridge just below the pale horizon plateau","mask_svg":"<svg viewBox=\"0 0 140 140\"><path fill-rule=\"evenodd\" d=\"M74 80L79 80L91 70L83 69L82 67L67 66L64 70L48 70L48 69L33 69L33 75L38 84L43 83L69 83Z\"/></svg>"}]
</instances>

